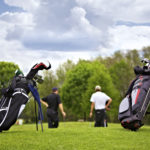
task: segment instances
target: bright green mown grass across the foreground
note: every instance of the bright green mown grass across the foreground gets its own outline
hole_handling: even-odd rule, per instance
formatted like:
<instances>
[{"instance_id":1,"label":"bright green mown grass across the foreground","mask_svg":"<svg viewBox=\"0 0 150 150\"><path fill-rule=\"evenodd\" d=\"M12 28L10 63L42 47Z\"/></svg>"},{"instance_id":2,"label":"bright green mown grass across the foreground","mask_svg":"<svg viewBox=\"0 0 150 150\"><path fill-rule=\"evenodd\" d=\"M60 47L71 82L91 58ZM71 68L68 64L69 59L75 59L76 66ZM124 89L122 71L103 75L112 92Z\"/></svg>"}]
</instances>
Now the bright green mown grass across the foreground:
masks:
<instances>
[{"instance_id":1,"label":"bright green mown grass across the foreground","mask_svg":"<svg viewBox=\"0 0 150 150\"><path fill-rule=\"evenodd\" d=\"M60 123L58 129L36 131L35 124L14 125L0 133L0 150L148 150L150 126L133 132L120 124L94 128L92 122Z\"/></svg>"}]
</instances>

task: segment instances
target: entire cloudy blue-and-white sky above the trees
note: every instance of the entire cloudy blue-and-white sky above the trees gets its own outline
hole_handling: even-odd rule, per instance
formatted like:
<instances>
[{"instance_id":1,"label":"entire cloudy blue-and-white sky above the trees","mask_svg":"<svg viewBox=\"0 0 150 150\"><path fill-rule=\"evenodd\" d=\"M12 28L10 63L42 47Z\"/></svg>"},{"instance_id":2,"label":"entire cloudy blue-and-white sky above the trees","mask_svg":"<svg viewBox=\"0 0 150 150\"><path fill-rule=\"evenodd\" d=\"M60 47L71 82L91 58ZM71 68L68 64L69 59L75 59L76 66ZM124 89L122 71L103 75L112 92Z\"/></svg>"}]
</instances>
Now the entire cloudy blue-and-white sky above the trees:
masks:
<instances>
[{"instance_id":1,"label":"entire cloudy blue-and-white sky above the trees","mask_svg":"<svg viewBox=\"0 0 150 150\"><path fill-rule=\"evenodd\" d=\"M26 73L49 61L150 46L149 0L0 0L0 61Z\"/></svg>"}]
</instances>

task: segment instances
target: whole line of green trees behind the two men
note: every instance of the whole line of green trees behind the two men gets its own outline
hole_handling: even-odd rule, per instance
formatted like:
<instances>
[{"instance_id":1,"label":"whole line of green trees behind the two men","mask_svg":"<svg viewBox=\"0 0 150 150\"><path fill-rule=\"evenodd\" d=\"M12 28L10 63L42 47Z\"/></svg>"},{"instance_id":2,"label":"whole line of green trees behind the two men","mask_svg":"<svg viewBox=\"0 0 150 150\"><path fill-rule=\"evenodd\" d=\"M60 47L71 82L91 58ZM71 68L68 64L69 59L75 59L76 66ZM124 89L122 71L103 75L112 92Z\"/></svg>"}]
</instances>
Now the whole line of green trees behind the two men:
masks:
<instances>
[{"instance_id":1,"label":"whole line of green trees behind the two men","mask_svg":"<svg viewBox=\"0 0 150 150\"><path fill-rule=\"evenodd\" d=\"M90 97L95 86L100 85L102 91L113 100L111 111L107 113L108 119L111 122L118 122L119 104L130 82L135 78L133 68L142 65L142 58L150 58L150 47L126 52L120 50L109 57L98 56L93 60L79 60L76 64L67 60L55 72L51 69L43 73L44 82L38 85L40 97L47 96L53 87L58 87L67 113L66 119L89 120ZM8 85L14 71L19 67L9 62L0 62L0 66L3 68L0 70L0 88L2 88ZM46 108L42 107L44 121L47 121ZM26 122L33 122L35 120L33 114L34 101L31 99L21 117ZM146 121L149 121L149 116L146 117Z\"/></svg>"}]
</instances>

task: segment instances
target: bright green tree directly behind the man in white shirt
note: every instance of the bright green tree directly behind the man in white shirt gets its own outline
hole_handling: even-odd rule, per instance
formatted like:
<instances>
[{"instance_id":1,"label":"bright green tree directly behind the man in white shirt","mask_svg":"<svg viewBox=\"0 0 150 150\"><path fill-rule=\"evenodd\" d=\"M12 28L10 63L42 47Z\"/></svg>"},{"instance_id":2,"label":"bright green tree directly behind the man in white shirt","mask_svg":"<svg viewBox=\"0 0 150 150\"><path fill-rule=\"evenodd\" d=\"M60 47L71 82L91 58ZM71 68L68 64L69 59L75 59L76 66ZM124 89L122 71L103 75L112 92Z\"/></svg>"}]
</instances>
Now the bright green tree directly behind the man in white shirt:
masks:
<instances>
[{"instance_id":1,"label":"bright green tree directly behind the man in white shirt","mask_svg":"<svg viewBox=\"0 0 150 150\"><path fill-rule=\"evenodd\" d=\"M108 112L108 118L110 121L118 121L118 106L119 106L119 91L115 88L112 78L109 74L108 69L101 63L94 61L92 62L93 74L88 79L88 88L85 91L83 98L89 100L92 93L95 92L95 86L100 85L102 87L102 92L109 95L113 102L111 104L111 111ZM84 101L83 106L85 106L85 110L89 114L89 107L87 101Z\"/></svg>"}]
</instances>

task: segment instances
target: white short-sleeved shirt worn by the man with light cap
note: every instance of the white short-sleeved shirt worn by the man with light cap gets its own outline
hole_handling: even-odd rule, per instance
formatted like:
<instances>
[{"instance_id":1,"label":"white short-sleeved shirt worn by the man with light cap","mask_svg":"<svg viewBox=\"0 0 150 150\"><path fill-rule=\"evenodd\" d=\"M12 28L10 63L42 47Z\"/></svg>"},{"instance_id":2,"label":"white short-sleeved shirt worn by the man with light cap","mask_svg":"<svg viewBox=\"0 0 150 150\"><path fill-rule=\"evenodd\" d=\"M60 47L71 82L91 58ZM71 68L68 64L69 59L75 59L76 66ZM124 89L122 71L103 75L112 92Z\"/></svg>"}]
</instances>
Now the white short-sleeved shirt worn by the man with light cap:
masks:
<instances>
[{"instance_id":1,"label":"white short-sleeved shirt worn by the man with light cap","mask_svg":"<svg viewBox=\"0 0 150 150\"><path fill-rule=\"evenodd\" d=\"M95 110L105 109L106 102L111 99L108 95L103 92L97 91L92 94L90 102L95 103Z\"/></svg>"}]
</instances>

